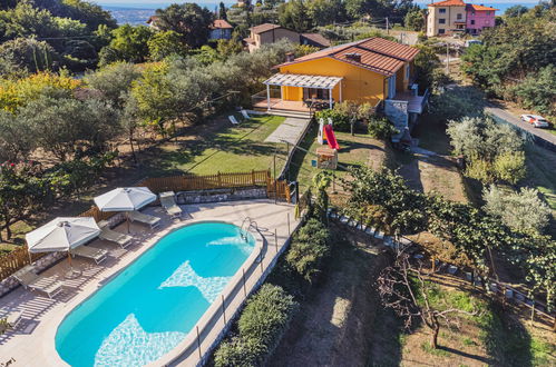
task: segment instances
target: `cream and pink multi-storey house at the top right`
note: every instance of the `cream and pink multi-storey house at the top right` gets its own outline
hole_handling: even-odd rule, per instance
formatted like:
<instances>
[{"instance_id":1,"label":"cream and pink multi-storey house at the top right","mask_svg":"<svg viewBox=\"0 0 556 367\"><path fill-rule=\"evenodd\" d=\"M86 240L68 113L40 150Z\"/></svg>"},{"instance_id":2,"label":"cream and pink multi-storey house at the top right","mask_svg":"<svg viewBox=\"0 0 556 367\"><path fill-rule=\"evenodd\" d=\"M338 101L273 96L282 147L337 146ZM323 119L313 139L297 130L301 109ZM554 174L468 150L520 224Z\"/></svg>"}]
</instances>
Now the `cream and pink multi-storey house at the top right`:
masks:
<instances>
[{"instance_id":1,"label":"cream and pink multi-storey house at the top right","mask_svg":"<svg viewBox=\"0 0 556 367\"><path fill-rule=\"evenodd\" d=\"M427 36L478 34L495 26L497 9L465 3L462 0L445 0L428 6Z\"/></svg>"}]
</instances>

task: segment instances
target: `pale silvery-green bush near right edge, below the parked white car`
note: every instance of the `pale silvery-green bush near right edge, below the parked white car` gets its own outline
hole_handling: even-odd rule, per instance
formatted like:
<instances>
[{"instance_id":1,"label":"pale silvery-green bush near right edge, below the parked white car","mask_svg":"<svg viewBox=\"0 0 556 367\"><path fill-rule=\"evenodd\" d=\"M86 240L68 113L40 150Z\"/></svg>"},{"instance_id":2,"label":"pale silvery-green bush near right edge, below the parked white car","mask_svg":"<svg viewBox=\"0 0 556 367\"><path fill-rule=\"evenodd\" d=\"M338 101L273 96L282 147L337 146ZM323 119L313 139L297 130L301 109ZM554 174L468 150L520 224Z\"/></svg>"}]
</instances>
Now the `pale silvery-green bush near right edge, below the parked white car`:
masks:
<instances>
[{"instance_id":1,"label":"pale silvery-green bush near right edge, below the parked white car","mask_svg":"<svg viewBox=\"0 0 556 367\"><path fill-rule=\"evenodd\" d=\"M485 210L519 231L540 232L550 220L550 208L538 197L538 191L521 188L507 192L491 185L482 191Z\"/></svg>"}]
</instances>

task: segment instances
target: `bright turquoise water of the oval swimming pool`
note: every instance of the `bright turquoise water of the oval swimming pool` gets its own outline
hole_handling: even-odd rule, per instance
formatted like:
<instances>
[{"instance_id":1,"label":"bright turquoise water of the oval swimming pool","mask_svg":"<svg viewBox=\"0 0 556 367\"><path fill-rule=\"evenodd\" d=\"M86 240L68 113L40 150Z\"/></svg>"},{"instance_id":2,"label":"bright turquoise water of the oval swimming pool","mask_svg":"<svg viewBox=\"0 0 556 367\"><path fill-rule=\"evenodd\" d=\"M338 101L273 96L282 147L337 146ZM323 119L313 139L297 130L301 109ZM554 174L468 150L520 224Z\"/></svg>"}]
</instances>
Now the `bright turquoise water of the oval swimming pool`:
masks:
<instances>
[{"instance_id":1,"label":"bright turquoise water of the oval swimming pool","mask_svg":"<svg viewBox=\"0 0 556 367\"><path fill-rule=\"evenodd\" d=\"M163 237L71 311L56 349L71 366L143 366L181 343L253 251L240 228L203 222Z\"/></svg>"}]
</instances>

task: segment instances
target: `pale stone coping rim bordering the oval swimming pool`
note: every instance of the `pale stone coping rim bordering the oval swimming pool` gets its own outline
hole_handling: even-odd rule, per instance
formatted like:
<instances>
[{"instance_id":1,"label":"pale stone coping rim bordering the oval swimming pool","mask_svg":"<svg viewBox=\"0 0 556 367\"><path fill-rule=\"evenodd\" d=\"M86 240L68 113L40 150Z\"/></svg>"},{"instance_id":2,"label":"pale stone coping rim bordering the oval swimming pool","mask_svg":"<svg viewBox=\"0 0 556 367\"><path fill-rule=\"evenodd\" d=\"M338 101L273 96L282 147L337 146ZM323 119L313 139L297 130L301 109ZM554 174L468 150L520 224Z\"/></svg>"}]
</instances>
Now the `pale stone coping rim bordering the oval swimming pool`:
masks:
<instances>
[{"instance_id":1,"label":"pale stone coping rim bordering the oval swimming pool","mask_svg":"<svg viewBox=\"0 0 556 367\"><path fill-rule=\"evenodd\" d=\"M50 319L48 321L48 331L45 338L45 341L42 343L42 348L45 348L46 353L43 356L47 357L46 363L52 366L70 366L68 363L66 363L60 355L58 354L58 350L56 349L56 334L58 333L58 328L60 325L64 323L64 320L71 314L77 307L82 305L86 300L88 300L90 297L92 297L99 289L101 289L106 284L111 281L115 277L117 277L121 271L126 270L129 266L131 266L135 261L137 261L143 255L145 255L146 251L152 249L158 241L169 235L170 232L182 229L184 227L188 227L192 225L198 225L202 222L220 222L220 224L228 224L228 225L234 225L236 227L240 227L241 225L237 225L233 221L224 220L222 218L199 218L199 219L189 219L184 222L175 222L167 228L164 228L159 231L154 232L154 236L150 237L149 239L146 239L145 241L147 242L147 246L142 248L140 252L137 254L137 256L131 259L127 265L124 267L115 270L110 275L108 275L106 278L101 279L99 281L98 287L90 291L90 292L84 292L80 295L81 297L76 297L68 305L65 305L64 307L67 307L67 311L60 315L57 315L57 317ZM265 238L264 236L257 230L248 230L250 234L253 235L255 238L255 247L251 255L245 259L245 261L237 269L236 274L232 277L232 279L227 282L226 287L224 290L218 295L222 297L222 295L225 295L224 299L226 300L231 294L232 290L234 290L237 287L237 284L240 280L243 278L243 274L240 274L240 269L244 268L245 266L252 267L253 264L257 260L257 258L261 257L262 250L264 248L265 244ZM148 244L152 242L152 244ZM196 331L196 328L199 326L199 333L205 331L206 327L208 326L209 321L215 317L217 314L218 309L221 308L221 305L218 304L218 298L217 297L211 306L207 308L207 310L203 314L203 316L198 319L198 321L195 324L195 326L192 328L189 333L187 333L186 337L176 346L174 347L170 351L165 354L163 357L159 359L152 361L145 366L166 366L168 364L172 364L175 361L177 358L182 357L184 351L187 350L188 348L192 347L192 345L196 341L196 335L194 331Z\"/></svg>"}]
</instances>

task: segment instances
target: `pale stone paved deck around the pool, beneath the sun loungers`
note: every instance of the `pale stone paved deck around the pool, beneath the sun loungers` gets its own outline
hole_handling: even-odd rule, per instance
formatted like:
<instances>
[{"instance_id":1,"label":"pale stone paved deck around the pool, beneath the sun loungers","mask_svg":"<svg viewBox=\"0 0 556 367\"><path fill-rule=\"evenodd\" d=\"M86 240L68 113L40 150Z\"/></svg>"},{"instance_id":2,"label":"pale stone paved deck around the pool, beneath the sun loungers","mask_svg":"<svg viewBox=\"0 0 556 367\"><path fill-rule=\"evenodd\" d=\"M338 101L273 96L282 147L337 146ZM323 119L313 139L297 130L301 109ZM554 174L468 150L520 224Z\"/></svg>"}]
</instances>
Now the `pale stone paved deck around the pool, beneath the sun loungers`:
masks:
<instances>
[{"instance_id":1,"label":"pale stone paved deck around the pool, beneath the sun loungers","mask_svg":"<svg viewBox=\"0 0 556 367\"><path fill-rule=\"evenodd\" d=\"M95 241L95 246L108 249L110 256L101 265L75 258L72 260L74 267L82 271L82 275L76 279L65 279L64 277L69 270L67 260L61 260L43 271L41 275L56 277L65 285L65 290L55 299L25 290L21 287L0 298L0 317L6 315L8 310L23 311L23 320L16 330L9 330L0 336L0 364L13 358L12 366L65 366L66 364L58 357L53 341L58 325L75 306L109 281L110 277L154 246L162 236L187 225L187 222L223 220L240 226L246 217L250 217L257 222L260 232L266 240L262 252L263 259L262 262L257 261L253 267L246 268L245 287L242 287L243 285L234 287L234 291L226 298L226 323L224 323L222 308L218 308L220 311L214 313L214 317L207 320L208 327L199 327L201 350L204 355L214 345L224 327L230 325L231 315L240 308L244 300L244 292L248 294L254 289L262 274L266 274L266 269L277 257L279 250L285 245L289 232L297 222L293 219L292 205L274 204L273 200L267 199L187 205L182 206L182 208L186 212L182 220L172 220L160 207L147 208L145 212L162 218L160 228L150 231L145 226L131 224L130 229L136 241L127 249L120 249L101 240ZM117 230L125 232L125 225L120 225ZM274 239L275 232L276 240ZM101 321L99 320L99 323ZM172 353L174 356L168 355L172 357L170 359L182 355L170 365L195 366L198 364L196 344L194 347L186 348L185 354L182 351L174 350Z\"/></svg>"}]
</instances>

